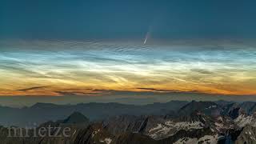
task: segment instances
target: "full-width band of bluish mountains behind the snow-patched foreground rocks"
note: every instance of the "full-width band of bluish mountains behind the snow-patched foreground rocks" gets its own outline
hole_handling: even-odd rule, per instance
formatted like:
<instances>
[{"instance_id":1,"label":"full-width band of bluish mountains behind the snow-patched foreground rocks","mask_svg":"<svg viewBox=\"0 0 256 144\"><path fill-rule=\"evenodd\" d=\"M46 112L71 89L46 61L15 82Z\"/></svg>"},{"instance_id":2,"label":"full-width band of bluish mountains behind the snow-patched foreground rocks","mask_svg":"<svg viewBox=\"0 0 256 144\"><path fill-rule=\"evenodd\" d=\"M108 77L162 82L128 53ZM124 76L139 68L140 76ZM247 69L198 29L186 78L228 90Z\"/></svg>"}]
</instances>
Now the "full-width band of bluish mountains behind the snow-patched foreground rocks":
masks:
<instances>
[{"instance_id":1,"label":"full-width band of bluish mountains behind the snow-patched foreground rocks","mask_svg":"<svg viewBox=\"0 0 256 144\"><path fill-rule=\"evenodd\" d=\"M47 121L64 119L70 114L79 112L90 121L102 120L118 115L161 115L176 118L178 115L191 114L195 110L210 116L226 115L237 118L240 114L252 115L256 110L256 102L184 102L171 101L144 106L120 103L80 103L77 105L55 105L36 103L24 108L0 106L0 125L2 126L34 126Z\"/></svg>"}]
</instances>

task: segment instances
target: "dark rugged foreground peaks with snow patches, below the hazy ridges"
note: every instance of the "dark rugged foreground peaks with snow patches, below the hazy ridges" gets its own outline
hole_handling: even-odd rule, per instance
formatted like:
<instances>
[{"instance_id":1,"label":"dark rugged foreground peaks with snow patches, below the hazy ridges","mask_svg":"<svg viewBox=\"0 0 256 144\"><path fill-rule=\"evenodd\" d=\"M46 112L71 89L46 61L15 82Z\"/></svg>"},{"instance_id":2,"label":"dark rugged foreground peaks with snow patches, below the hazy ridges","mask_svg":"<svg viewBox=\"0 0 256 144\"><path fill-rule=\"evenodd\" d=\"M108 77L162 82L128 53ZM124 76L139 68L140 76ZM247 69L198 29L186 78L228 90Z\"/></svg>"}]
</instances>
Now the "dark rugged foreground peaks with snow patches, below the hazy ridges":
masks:
<instances>
[{"instance_id":1,"label":"dark rugged foreground peaks with snow patches, below the hazy ridges","mask_svg":"<svg viewBox=\"0 0 256 144\"><path fill-rule=\"evenodd\" d=\"M118 114L90 122L79 112L58 121L44 122L43 127L59 127L68 136L52 137L57 130L43 131L45 137L8 137L14 130L0 127L1 144L249 144L256 143L256 114L254 102L230 103L190 102L173 114ZM248 105L246 105L248 104ZM158 105L158 104L157 104ZM44 106L44 105L43 105ZM42 106L34 106L40 109ZM45 108L51 105L44 106ZM216 114L215 112L218 112ZM17 127L18 128L18 127ZM19 129L19 128L18 128ZM25 131L24 128L21 129ZM33 134L29 130L28 134ZM23 133L22 133L23 134ZM25 133L26 134L26 133Z\"/></svg>"}]
</instances>

